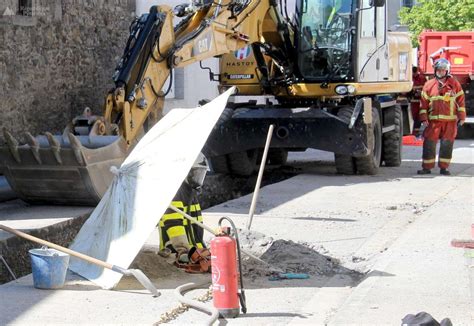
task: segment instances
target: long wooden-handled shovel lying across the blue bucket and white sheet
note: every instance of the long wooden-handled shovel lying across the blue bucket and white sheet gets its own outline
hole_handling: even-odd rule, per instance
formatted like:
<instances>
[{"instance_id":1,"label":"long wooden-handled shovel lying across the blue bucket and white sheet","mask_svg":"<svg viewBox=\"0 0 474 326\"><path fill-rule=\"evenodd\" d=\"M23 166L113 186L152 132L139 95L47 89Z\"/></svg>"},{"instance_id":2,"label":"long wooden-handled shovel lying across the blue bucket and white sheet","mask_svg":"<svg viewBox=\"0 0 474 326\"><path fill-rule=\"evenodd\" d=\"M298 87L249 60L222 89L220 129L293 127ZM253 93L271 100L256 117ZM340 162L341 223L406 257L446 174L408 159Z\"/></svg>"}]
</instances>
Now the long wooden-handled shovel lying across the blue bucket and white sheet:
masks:
<instances>
[{"instance_id":1,"label":"long wooden-handled shovel lying across the blue bucket and white sheet","mask_svg":"<svg viewBox=\"0 0 474 326\"><path fill-rule=\"evenodd\" d=\"M116 265L112 265L112 264L106 263L102 260L98 260L96 258L81 254L77 251L74 251L74 250L71 250L71 249L68 249L68 248L64 248L64 247L61 247L57 244L51 243L49 241L42 240L40 238L34 237L34 236L29 235L27 233L9 228L5 225L0 224L0 230L4 230L8 233L11 233L11 234L17 235L19 237L25 238L26 240L30 240L30 241L39 243L41 245L48 246L50 248L62 251L66 254L69 254L69 255L77 257L79 259L85 260L85 261L87 261L91 264L95 264L95 265L98 265L100 267L113 270L114 272L120 273L122 275L134 276L137 279L137 281L140 282L141 285L143 285L143 287L145 289L147 289L148 291L151 292L151 294L153 294L154 297L159 297L160 296L160 292L158 292L158 290L153 285L153 283L150 281L150 279L148 277L146 277L146 275L143 274L143 272L139 269L126 269L126 268L122 268L122 267L119 267L119 266L116 266Z\"/></svg>"}]
</instances>

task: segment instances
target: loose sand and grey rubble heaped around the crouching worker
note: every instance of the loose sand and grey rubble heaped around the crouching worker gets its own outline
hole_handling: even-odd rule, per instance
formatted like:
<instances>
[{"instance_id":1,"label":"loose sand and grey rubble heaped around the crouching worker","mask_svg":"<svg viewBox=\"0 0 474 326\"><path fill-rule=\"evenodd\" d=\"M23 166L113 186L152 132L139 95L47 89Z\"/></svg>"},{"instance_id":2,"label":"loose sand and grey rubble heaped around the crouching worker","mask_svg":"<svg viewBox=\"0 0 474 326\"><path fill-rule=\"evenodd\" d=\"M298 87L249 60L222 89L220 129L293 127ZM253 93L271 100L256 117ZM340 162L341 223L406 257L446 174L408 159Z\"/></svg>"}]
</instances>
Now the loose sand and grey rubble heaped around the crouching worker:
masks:
<instances>
[{"instance_id":1,"label":"loose sand and grey rubble heaped around the crouching worker","mask_svg":"<svg viewBox=\"0 0 474 326\"><path fill-rule=\"evenodd\" d=\"M345 286L356 286L366 275L346 268L334 257L323 254L323 248L304 242L273 239L257 231L239 230L243 250L242 276L246 288L282 286L275 279L280 273L307 274L308 279L293 280L298 286L323 286L332 277L343 279ZM173 266L173 259L163 258L158 248L145 246L133 261L131 268L140 269L161 289L174 289L177 284L195 283L206 288L210 274L189 274ZM291 282L291 281L290 281ZM143 286L134 277L125 276L116 290L140 290Z\"/></svg>"}]
</instances>

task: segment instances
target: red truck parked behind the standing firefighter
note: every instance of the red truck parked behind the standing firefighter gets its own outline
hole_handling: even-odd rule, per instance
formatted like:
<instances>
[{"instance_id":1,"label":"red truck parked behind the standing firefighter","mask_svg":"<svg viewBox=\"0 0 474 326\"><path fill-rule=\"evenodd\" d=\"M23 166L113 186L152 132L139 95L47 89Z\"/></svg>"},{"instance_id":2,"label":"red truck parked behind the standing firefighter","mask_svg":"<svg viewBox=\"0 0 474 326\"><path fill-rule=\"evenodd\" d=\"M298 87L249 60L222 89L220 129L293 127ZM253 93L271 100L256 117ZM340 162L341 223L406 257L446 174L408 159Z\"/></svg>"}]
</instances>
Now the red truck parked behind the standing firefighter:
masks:
<instances>
[{"instance_id":1,"label":"red truck parked behind the standing firefighter","mask_svg":"<svg viewBox=\"0 0 474 326\"><path fill-rule=\"evenodd\" d=\"M461 138L474 135L474 32L437 32L426 30L419 36L418 67L432 78L433 61L451 62L451 74L461 83L466 95L466 124L460 128Z\"/></svg>"}]
</instances>

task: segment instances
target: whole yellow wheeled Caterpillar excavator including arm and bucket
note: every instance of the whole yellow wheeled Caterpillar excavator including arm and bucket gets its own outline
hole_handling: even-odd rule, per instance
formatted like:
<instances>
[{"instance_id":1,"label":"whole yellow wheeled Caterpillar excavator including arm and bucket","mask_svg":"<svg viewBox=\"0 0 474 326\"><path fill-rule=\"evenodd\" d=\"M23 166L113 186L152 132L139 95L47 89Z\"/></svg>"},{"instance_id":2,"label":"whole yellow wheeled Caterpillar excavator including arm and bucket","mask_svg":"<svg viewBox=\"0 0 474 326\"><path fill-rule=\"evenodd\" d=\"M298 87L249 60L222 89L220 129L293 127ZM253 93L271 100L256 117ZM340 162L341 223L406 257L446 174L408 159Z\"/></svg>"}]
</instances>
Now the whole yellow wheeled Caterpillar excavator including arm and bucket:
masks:
<instances>
[{"instance_id":1,"label":"whole yellow wheeled Caterpillar excavator including arm and bucket","mask_svg":"<svg viewBox=\"0 0 474 326\"><path fill-rule=\"evenodd\" d=\"M411 47L406 33L387 31L386 10L384 0L151 7L130 27L103 115L86 109L63 134L27 134L25 144L4 130L0 170L27 202L95 205L110 167L162 116L173 69L211 57L220 91L237 89L203 149L215 171L253 173L270 124L273 164L317 148L335 153L339 173L399 165L410 119L397 96L412 87Z\"/></svg>"}]
</instances>

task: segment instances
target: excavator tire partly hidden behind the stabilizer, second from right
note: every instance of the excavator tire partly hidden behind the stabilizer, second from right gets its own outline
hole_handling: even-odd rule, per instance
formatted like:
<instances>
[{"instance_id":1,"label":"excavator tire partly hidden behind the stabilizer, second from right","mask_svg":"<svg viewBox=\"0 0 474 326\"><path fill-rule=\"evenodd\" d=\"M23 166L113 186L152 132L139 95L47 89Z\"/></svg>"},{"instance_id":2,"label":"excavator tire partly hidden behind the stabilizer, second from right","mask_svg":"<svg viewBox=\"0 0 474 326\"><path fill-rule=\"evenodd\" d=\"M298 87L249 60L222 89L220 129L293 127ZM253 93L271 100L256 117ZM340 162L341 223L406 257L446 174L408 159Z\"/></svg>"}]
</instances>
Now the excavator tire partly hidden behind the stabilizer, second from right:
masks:
<instances>
[{"instance_id":1,"label":"excavator tire partly hidden behind the stabilizer, second from right","mask_svg":"<svg viewBox=\"0 0 474 326\"><path fill-rule=\"evenodd\" d=\"M382 159L382 126L379 111L376 108L372 108L372 130L374 136L372 153L365 157L355 158L356 168L359 174L377 174Z\"/></svg>"}]
</instances>

